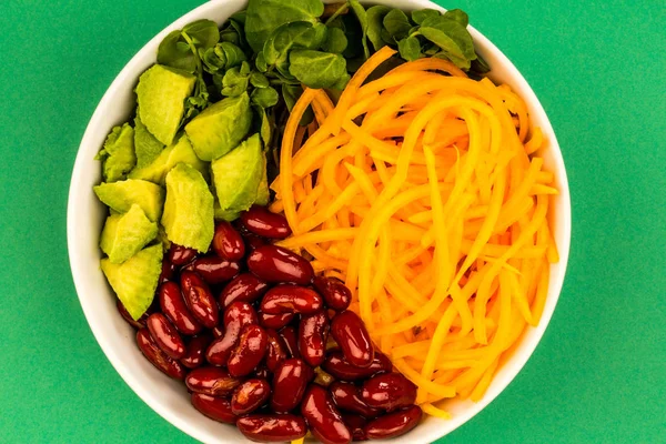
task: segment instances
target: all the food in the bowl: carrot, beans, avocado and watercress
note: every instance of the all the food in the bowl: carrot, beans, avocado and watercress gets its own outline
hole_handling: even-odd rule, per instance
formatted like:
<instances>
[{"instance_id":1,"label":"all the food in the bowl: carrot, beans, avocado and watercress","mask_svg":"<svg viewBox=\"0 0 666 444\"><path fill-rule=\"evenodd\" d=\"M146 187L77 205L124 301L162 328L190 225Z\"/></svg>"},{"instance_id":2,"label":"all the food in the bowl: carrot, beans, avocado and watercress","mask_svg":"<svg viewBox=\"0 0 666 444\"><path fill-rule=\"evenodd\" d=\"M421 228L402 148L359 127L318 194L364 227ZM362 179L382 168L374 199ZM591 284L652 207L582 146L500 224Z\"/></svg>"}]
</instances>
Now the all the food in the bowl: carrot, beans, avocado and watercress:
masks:
<instances>
[{"instance_id":1,"label":"all the food in the bowl: carrot, beans, avocado and watercress","mask_svg":"<svg viewBox=\"0 0 666 444\"><path fill-rule=\"evenodd\" d=\"M206 415L296 440L300 405L324 442L395 436L481 398L538 322L544 139L483 77L462 11L278 3L160 46L100 152L102 270Z\"/></svg>"}]
</instances>

